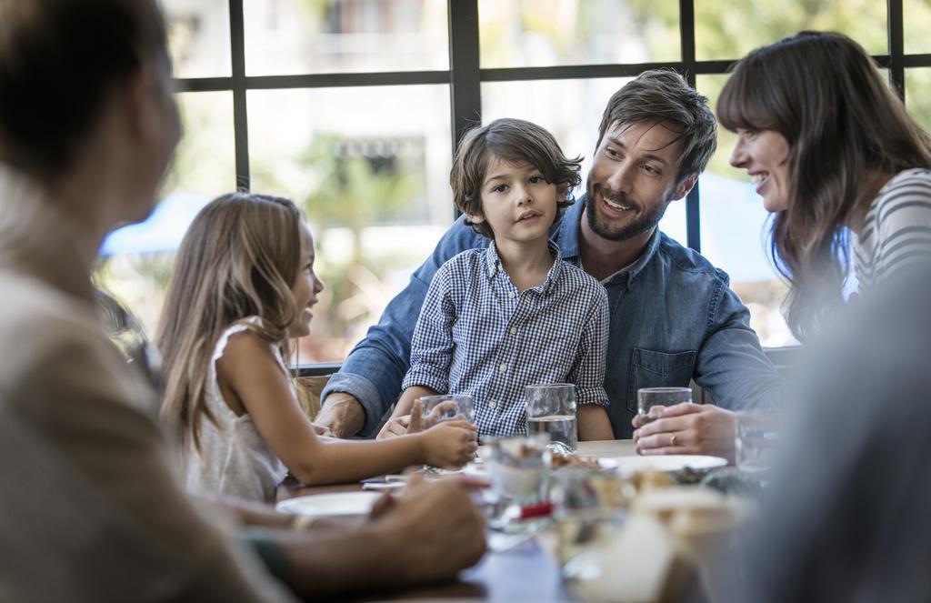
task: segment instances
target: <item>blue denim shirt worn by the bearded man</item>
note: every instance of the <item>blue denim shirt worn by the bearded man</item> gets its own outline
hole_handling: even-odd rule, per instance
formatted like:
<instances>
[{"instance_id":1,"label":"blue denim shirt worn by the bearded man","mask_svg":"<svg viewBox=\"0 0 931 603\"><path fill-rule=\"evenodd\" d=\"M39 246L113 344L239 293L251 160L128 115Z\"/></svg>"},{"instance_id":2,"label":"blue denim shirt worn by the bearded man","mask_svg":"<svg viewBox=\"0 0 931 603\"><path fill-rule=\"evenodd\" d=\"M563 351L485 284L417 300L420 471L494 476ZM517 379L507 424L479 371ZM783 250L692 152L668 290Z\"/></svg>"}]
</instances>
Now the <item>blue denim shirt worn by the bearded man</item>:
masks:
<instances>
[{"instance_id":1,"label":"blue denim shirt worn by the bearded man","mask_svg":"<svg viewBox=\"0 0 931 603\"><path fill-rule=\"evenodd\" d=\"M584 204L585 197L570 206L551 235L562 257L575 265ZM488 243L460 217L350 352L321 399L334 391L354 395L365 408L362 433L371 433L400 393L414 325L433 275L453 255ZM749 310L728 282L725 272L658 228L641 259L604 282L611 317L604 386L614 437L631 437L640 388L687 387L695 378L724 408L775 403L782 379L763 355Z\"/></svg>"}]
</instances>

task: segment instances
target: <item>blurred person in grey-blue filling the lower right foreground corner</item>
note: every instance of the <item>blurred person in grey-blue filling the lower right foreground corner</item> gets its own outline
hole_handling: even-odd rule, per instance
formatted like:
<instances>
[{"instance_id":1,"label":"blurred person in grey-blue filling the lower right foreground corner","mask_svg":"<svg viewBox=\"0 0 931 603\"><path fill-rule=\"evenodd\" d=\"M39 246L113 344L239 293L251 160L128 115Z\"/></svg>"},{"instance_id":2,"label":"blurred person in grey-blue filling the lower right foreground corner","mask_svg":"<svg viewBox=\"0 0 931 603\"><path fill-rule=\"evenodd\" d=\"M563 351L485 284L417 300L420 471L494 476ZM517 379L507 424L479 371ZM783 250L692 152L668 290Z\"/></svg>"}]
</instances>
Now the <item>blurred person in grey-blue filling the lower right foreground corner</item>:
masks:
<instances>
[{"instance_id":1,"label":"blurred person in grey-blue filling the lower right foreground corner","mask_svg":"<svg viewBox=\"0 0 931 603\"><path fill-rule=\"evenodd\" d=\"M808 350L741 600L931 600L928 308L925 260Z\"/></svg>"}]
</instances>

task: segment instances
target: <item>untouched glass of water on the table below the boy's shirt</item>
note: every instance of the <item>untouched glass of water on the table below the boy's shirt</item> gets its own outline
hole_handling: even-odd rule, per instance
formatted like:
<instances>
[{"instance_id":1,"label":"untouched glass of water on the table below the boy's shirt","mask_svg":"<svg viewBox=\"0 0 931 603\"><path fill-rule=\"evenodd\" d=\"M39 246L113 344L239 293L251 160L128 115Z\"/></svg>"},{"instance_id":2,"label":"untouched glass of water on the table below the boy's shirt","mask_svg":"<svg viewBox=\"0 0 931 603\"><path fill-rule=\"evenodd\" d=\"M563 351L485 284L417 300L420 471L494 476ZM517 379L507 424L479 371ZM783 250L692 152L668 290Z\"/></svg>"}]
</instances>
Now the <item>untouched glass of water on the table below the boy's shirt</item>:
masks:
<instances>
[{"instance_id":1,"label":"untouched glass of water on the table below the boy's shirt","mask_svg":"<svg viewBox=\"0 0 931 603\"><path fill-rule=\"evenodd\" d=\"M549 449L572 454L578 445L575 426L575 386L547 383L524 388L527 400L527 434L548 433Z\"/></svg>"}]
</instances>

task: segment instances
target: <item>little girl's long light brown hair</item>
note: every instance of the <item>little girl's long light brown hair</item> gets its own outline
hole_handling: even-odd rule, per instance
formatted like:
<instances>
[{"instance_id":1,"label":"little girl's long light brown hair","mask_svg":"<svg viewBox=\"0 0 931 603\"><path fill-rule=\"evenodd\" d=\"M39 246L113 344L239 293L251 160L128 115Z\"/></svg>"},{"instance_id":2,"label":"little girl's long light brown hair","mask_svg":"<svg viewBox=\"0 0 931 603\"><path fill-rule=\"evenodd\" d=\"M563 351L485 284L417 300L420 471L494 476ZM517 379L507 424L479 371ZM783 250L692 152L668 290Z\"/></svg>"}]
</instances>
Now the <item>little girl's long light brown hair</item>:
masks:
<instances>
[{"instance_id":1,"label":"little girl's long light brown hair","mask_svg":"<svg viewBox=\"0 0 931 603\"><path fill-rule=\"evenodd\" d=\"M156 343L162 353L162 416L200 450L200 422L213 349L231 324L249 325L288 357L299 309L291 287L301 264L301 213L288 199L232 193L199 212L182 240Z\"/></svg>"}]
</instances>

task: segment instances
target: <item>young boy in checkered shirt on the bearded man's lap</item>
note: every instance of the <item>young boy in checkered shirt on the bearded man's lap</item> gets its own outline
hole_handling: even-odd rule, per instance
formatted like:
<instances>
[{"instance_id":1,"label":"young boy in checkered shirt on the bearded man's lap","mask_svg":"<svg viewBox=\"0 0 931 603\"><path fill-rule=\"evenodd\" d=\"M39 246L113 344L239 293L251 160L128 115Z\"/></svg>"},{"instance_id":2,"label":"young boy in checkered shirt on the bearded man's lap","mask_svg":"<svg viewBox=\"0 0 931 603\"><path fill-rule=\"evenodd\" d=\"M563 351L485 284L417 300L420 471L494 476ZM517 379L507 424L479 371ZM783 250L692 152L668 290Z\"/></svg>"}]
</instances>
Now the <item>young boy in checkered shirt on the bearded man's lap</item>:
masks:
<instances>
[{"instance_id":1,"label":"young boy in checkered shirt on the bearded man's lap","mask_svg":"<svg viewBox=\"0 0 931 603\"><path fill-rule=\"evenodd\" d=\"M613 439L605 406L608 298L560 259L549 229L573 203L580 159L520 119L466 134L450 184L466 223L492 241L439 268L414 329L411 370L379 437L403 432L425 395L472 396L479 435L525 433L524 386L574 383L580 439Z\"/></svg>"}]
</instances>

